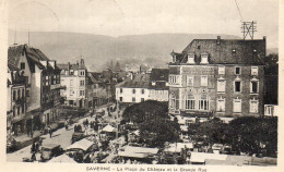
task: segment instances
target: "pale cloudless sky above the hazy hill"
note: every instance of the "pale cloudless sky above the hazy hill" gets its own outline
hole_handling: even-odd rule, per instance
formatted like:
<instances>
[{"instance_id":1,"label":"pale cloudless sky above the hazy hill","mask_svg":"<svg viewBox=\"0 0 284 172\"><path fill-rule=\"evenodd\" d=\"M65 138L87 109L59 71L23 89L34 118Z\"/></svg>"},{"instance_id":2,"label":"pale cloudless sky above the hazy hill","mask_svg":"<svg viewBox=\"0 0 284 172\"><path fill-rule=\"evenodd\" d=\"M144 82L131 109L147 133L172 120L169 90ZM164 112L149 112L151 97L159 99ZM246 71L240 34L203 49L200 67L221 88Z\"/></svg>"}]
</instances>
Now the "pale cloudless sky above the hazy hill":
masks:
<instances>
[{"instance_id":1,"label":"pale cloudless sky above the hazy hill","mask_svg":"<svg viewBox=\"0 0 284 172\"><path fill-rule=\"evenodd\" d=\"M257 21L256 38L277 48L277 0L9 0L9 28L122 36L156 33L242 36L241 21ZM238 3L241 16L238 12Z\"/></svg>"}]
</instances>

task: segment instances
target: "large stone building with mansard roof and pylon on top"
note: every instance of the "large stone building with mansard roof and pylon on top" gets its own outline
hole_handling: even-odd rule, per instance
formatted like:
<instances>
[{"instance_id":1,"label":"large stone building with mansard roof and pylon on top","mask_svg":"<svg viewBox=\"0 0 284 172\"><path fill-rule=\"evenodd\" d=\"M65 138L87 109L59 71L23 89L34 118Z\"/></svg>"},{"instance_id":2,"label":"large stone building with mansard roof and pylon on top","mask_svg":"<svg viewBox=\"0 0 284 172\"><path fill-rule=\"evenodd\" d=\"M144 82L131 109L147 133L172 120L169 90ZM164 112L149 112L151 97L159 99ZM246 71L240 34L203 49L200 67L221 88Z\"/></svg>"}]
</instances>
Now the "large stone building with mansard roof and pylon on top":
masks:
<instances>
[{"instance_id":1,"label":"large stone building with mansard roof and pylon on top","mask_svg":"<svg viewBox=\"0 0 284 172\"><path fill-rule=\"evenodd\" d=\"M193 39L169 63L169 113L263 115L265 37Z\"/></svg>"}]
</instances>

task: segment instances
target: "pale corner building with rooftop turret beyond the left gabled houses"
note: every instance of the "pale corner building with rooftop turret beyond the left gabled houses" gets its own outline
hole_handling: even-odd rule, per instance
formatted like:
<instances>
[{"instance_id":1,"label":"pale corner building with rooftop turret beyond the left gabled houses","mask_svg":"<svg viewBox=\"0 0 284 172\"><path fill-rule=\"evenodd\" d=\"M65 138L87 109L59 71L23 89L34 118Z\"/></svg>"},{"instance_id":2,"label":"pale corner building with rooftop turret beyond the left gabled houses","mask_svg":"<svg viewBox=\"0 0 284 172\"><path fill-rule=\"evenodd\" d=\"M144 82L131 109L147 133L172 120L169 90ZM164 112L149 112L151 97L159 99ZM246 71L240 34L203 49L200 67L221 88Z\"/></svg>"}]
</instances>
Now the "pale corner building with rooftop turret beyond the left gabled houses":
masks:
<instances>
[{"instance_id":1,"label":"pale corner building with rooftop turret beyond the left gabled houses","mask_svg":"<svg viewBox=\"0 0 284 172\"><path fill-rule=\"evenodd\" d=\"M84 60L75 64L58 64L61 70L61 85L66 86L61 90L64 97L64 105L78 108L87 108L87 69Z\"/></svg>"}]
</instances>

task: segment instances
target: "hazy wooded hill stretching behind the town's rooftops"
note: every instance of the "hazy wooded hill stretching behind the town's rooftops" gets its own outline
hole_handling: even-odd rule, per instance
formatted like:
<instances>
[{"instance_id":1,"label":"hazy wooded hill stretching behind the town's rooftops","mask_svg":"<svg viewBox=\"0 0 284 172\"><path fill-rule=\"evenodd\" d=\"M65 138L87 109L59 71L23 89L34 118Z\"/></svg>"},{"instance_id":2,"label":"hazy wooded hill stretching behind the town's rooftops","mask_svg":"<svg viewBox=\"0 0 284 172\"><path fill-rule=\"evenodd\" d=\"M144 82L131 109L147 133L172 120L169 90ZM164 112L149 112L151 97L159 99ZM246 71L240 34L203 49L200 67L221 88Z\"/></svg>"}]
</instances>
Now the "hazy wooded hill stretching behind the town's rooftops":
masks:
<instances>
[{"instance_id":1,"label":"hazy wooded hill stretching behind the town's rooftops","mask_svg":"<svg viewBox=\"0 0 284 172\"><path fill-rule=\"evenodd\" d=\"M9 44L14 44L14 32L9 32ZM16 44L28 42L27 33L16 33ZM110 37L103 35L79 33L29 33L29 45L39 48L49 59L58 63L75 62L85 59L87 67L100 71L110 60L125 63L149 64L165 67L169 61L169 53L180 52L192 39L216 38L217 35L204 34L149 34ZM237 36L221 35L221 38L239 38Z\"/></svg>"}]
</instances>

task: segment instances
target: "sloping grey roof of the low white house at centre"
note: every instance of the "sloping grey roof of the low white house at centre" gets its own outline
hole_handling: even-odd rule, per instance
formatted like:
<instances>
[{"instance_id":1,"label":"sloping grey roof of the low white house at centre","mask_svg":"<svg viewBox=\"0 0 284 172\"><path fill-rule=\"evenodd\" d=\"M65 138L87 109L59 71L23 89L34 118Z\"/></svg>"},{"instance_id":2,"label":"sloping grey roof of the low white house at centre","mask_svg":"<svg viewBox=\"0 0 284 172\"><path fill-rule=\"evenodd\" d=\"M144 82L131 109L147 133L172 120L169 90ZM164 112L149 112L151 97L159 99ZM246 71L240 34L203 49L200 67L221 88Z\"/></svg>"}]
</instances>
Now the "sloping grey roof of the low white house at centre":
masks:
<instances>
[{"instance_id":1,"label":"sloping grey roof of the low white house at centre","mask_svg":"<svg viewBox=\"0 0 284 172\"><path fill-rule=\"evenodd\" d=\"M149 74L135 74L133 78L126 79L116 85L116 87L127 87L127 88L147 88L150 84Z\"/></svg>"}]
</instances>

